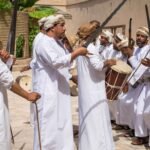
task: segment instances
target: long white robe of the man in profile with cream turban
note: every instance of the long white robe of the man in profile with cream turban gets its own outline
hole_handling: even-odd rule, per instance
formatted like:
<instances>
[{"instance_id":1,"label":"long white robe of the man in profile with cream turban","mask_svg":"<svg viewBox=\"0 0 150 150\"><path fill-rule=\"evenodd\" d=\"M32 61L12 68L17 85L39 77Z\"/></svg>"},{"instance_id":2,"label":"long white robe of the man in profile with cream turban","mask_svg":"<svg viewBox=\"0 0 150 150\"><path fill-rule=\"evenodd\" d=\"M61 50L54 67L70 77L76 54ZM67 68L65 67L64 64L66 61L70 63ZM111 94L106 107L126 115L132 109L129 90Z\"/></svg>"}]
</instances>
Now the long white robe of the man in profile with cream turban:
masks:
<instances>
[{"instance_id":1,"label":"long white robe of the man in profile with cream turban","mask_svg":"<svg viewBox=\"0 0 150 150\"><path fill-rule=\"evenodd\" d=\"M37 68L33 89L41 94L37 101L42 150L73 150L69 67L67 54L53 38L44 35L36 49ZM34 78L34 75L33 75ZM34 150L39 150L36 114Z\"/></svg>"}]
</instances>

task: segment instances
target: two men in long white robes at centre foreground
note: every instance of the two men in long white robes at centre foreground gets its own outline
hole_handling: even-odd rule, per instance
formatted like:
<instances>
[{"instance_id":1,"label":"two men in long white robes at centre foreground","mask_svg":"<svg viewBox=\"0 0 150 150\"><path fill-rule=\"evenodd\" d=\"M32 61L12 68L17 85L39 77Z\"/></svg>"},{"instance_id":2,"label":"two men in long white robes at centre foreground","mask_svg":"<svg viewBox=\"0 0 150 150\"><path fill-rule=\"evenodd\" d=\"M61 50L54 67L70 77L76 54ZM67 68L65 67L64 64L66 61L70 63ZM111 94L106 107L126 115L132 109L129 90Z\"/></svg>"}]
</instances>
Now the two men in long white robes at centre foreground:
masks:
<instances>
[{"instance_id":1,"label":"two men in long white robes at centre foreground","mask_svg":"<svg viewBox=\"0 0 150 150\"><path fill-rule=\"evenodd\" d=\"M98 22L88 25L88 29L82 27L78 32L84 39L98 27ZM33 58L30 62L33 90L41 94L37 101L40 141L37 114L32 106L34 150L40 150L40 145L42 150L75 148L69 88L69 79L73 77L69 69L77 57L80 114L78 148L114 150L103 68L114 65L115 60L103 60L93 43L87 48L76 45L74 50L68 51L68 43L63 40L66 28L62 15L42 18L39 26L42 30L33 42Z\"/></svg>"}]
</instances>

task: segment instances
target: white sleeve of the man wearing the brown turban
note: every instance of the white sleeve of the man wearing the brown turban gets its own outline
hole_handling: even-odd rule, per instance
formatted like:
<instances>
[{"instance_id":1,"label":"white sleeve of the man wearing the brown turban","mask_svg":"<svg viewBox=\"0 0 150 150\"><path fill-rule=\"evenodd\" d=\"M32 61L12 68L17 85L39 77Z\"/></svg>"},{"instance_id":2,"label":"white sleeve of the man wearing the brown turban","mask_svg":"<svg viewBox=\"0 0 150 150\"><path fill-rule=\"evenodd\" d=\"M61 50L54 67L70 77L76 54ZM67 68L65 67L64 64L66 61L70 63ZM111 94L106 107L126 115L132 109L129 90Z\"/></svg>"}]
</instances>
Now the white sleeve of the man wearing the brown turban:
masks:
<instances>
[{"instance_id":1,"label":"white sleeve of the man wearing the brown turban","mask_svg":"<svg viewBox=\"0 0 150 150\"><path fill-rule=\"evenodd\" d=\"M102 71L104 67L104 60L102 60L102 57L100 56L98 50L96 49L95 45L92 43L88 45L87 47L88 52L90 53L88 55L89 61L91 65L98 71Z\"/></svg>"}]
</instances>

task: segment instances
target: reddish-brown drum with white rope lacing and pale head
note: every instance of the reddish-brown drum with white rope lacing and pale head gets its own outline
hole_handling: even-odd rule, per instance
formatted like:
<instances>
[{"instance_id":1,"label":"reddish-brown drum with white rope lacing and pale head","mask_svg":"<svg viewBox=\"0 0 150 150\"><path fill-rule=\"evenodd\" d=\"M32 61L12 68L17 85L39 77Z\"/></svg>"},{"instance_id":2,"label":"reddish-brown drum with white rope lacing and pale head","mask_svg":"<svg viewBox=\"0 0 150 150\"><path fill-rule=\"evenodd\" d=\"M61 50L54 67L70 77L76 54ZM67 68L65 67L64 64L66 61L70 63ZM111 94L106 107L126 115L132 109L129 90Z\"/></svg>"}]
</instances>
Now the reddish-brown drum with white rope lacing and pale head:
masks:
<instances>
[{"instance_id":1,"label":"reddish-brown drum with white rope lacing and pale head","mask_svg":"<svg viewBox=\"0 0 150 150\"><path fill-rule=\"evenodd\" d=\"M105 84L108 100L117 100L131 72L132 68L121 60L117 60L116 65L107 70Z\"/></svg>"}]
</instances>

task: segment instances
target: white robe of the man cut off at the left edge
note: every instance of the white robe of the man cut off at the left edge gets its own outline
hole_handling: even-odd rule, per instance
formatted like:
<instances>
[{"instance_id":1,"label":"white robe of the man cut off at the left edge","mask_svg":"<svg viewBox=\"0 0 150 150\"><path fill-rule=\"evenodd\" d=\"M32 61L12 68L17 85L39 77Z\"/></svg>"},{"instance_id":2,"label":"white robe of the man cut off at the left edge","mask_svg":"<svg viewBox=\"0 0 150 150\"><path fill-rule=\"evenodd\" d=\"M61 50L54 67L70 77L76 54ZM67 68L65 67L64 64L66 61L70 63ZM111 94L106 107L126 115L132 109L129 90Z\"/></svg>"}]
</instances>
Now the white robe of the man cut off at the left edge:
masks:
<instances>
[{"instance_id":1,"label":"white robe of the man cut off at the left edge","mask_svg":"<svg viewBox=\"0 0 150 150\"><path fill-rule=\"evenodd\" d=\"M0 149L11 150L10 121L6 89L11 88L13 77L6 64L0 60Z\"/></svg>"}]
</instances>

